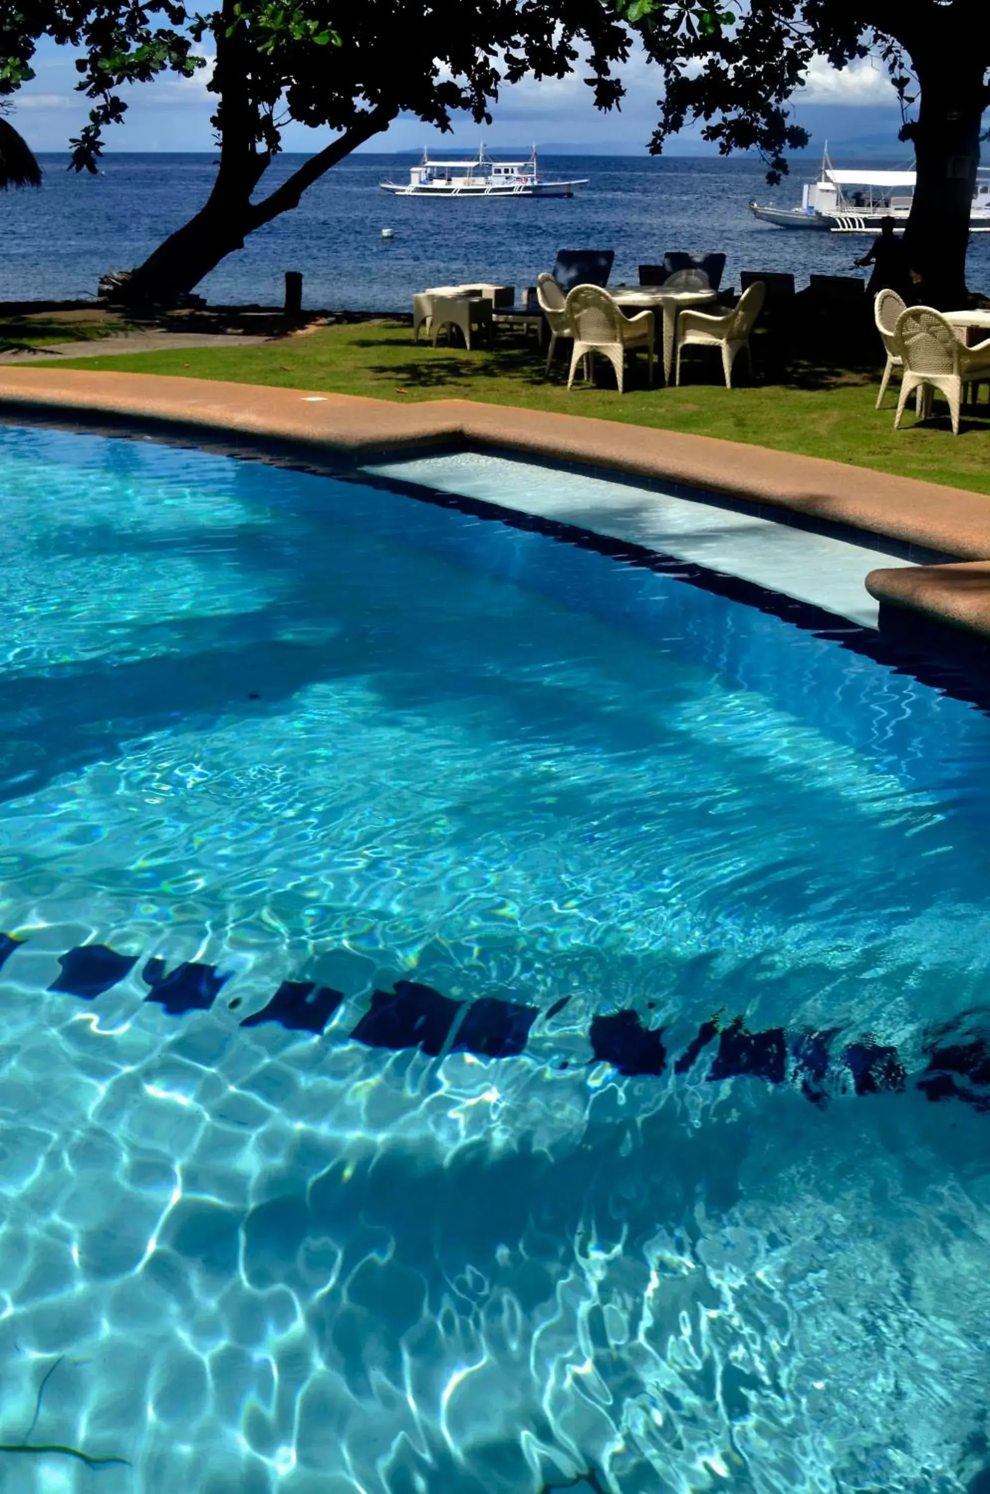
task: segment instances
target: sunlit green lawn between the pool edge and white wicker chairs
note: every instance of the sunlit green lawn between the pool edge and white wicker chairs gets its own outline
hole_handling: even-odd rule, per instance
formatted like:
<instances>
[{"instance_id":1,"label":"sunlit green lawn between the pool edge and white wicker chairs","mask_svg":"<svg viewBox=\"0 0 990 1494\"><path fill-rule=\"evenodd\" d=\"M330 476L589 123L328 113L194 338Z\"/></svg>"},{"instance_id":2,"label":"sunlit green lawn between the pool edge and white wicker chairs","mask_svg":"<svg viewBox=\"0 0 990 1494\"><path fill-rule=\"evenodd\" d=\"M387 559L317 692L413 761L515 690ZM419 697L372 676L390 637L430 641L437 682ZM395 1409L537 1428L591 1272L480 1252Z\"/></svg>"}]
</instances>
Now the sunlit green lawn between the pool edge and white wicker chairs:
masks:
<instances>
[{"instance_id":1,"label":"sunlit green lawn between the pool edge and white wicker chairs","mask_svg":"<svg viewBox=\"0 0 990 1494\"><path fill-rule=\"evenodd\" d=\"M872 354L854 368L836 368L824 357L784 362L772 344L757 338L756 382L748 381L741 359L739 387L726 390L718 356L691 353L690 365L685 354L687 382L681 388L647 388L636 360L627 369L623 396L605 368L599 387L575 384L567 391L563 353L555 372L544 381L533 339L500 333L491 353L443 345L435 350L427 342L414 344L408 323L390 320L320 327L251 348L73 359L58 366L182 374L405 402L476 399L521 405L832 457L990 493L990 405L965 415L959 436L953 436L947 406L938 399L933 420L915 426L914 414L906 414L894 432L894 396L888 393L884 408L874 409L880 363L872 366Z\"/></svg>"}]
</instances>

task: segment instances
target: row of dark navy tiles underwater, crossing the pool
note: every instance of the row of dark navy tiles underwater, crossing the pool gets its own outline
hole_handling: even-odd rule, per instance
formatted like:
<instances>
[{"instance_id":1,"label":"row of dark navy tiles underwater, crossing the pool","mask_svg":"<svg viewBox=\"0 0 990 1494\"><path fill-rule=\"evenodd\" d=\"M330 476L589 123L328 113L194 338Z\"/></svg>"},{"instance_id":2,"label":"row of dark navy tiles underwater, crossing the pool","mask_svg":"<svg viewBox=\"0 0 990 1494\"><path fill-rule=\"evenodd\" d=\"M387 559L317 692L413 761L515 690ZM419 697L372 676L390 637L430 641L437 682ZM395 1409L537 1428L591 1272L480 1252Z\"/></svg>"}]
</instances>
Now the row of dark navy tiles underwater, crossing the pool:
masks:
<instances>
[{"instance_id":1,"label":"row of dark navy tiles underwater, crossing the pool","mask_svg":"<svg viewBox=\"0 0 990 1494\"><path fill-rule=\"evenodd\" d=\"M13 934L0 934L0 968L24 943L27 940ZM81 944L58 956L61 974L48 991L96 1001L130 976L137 961L139 956L121 955L108 944ZM230 974L197 961L169 971L164 959L152 956L140 979L151 988L145 1001L178 1017L208 1011ZM266 1005L242 1017L239 1025L276 1023L290 1032L321 1037L343 999L343 992L331 986L284 980ZM367 1010L348 1035L364 1047L420 1049L429 1058L445 1053L518 1058L538 1019L548 1022L569 999L561 996L541 1011L494 996L457 1001L421 982L397 980L394 991L372 992ZM242 998L234 996L227 1010L236 1011L240 1002ZM624 1079L659 1079L670 1068L676 1079L693 1074L705 1062L705 1083L756 1079L772 1086L790 1085L820 1109L835 1094L902 1094L911 1082L932 1103L960 1100L974 1110L990 1112L990 1008L968 1011L924 1032L920 1050L927 1065L911 1079L893 1044L863 1034L844 1038L841 1028L787 1031L779 1026L750 1032L742 1016L726 1022L712 1017L699 1026L672 1064L666 1031L644 1026L633 1010L597 1014L588 1029L590 1065L608 1064ZM554 1067L566 1070L569 1064L561 1059Z\"/></svg>"}]
</instances>

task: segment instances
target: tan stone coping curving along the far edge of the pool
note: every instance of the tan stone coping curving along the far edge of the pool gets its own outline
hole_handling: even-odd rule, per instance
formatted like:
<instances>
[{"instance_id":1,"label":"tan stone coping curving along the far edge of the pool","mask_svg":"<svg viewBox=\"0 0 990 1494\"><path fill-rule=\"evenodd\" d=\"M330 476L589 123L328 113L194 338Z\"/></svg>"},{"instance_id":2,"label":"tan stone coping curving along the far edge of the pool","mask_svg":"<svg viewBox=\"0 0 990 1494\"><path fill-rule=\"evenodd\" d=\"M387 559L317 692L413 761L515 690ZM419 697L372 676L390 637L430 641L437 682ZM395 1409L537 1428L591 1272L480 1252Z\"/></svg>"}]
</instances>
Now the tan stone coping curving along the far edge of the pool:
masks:
<instances>
[{"instance_id":1,"label":"tan stone coping curving along the far edge of the pool","mask_svg":"<svg viewBox=\"0 0 990 1494\"><path fill-rule=\"evenodd\" d=\"M243 345L242 339L237 339ZM175 344L170 342L170 347ZM0 411L58 411L154 427L246 436L358 462L438 444L487 447L682 484L756 505L762 518L848 526L905 547L983 566L878 568L866 580L881 604L908 607L990 636L990 499L818 457L627 426L582 415L442 399L415 405L151 374L4 368Z\"/></svg>"}]
</instances>

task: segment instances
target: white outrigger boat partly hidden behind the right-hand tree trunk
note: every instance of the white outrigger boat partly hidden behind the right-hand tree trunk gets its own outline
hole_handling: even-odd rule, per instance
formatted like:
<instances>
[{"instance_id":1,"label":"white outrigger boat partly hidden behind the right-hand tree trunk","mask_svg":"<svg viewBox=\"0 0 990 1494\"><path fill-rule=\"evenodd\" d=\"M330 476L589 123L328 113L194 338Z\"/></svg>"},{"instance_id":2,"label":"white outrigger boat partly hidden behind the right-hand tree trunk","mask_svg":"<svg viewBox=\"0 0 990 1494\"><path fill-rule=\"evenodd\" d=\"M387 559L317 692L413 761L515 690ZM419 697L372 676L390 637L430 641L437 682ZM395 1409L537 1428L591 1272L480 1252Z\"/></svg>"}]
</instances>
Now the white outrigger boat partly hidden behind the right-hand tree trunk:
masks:
<instances>
[{"instance_id":1,"label":"white outrigger boat partly hidden behind the right-hand tree trunk","mask_svg":"<svg viewBox=\"0 0 990 1494\"><path fill-rule=\"evenodd\" d=\"M769 208L750 203L762 223L779 229L818 229L832 233L878 233L882 218L903 227L914 200L915 172L857 170L838 172L826 149L814 182L805 182L800 208ZM990 170L977 173L969 218L971 233L990 233Z\"/></svg>"}]
</instances>

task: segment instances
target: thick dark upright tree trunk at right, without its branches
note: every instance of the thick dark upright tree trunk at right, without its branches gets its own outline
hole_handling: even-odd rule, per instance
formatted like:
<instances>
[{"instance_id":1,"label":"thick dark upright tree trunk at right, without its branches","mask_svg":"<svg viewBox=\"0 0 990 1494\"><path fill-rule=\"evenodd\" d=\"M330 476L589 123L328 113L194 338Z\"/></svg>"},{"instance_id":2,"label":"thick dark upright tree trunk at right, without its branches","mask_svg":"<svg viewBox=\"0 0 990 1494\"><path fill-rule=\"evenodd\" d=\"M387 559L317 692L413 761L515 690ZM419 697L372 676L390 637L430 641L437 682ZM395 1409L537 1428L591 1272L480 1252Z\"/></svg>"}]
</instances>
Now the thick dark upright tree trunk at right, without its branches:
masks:
<instances>
[{"instance_id":1,"label":"thick dark upright tree trunk at right, without its branches","mask_svg":"<svg viewBox=\"0 0 990 1494\"><path fill-rule=\"evenodd\" d=\"M912 61L921 96L912 128L917 185L905 245L911 269L920 276L918 299L951 311L966 299L986 64L980 57L974 61L956 37L932 45Z\"/></svg>"}]
</instances>

